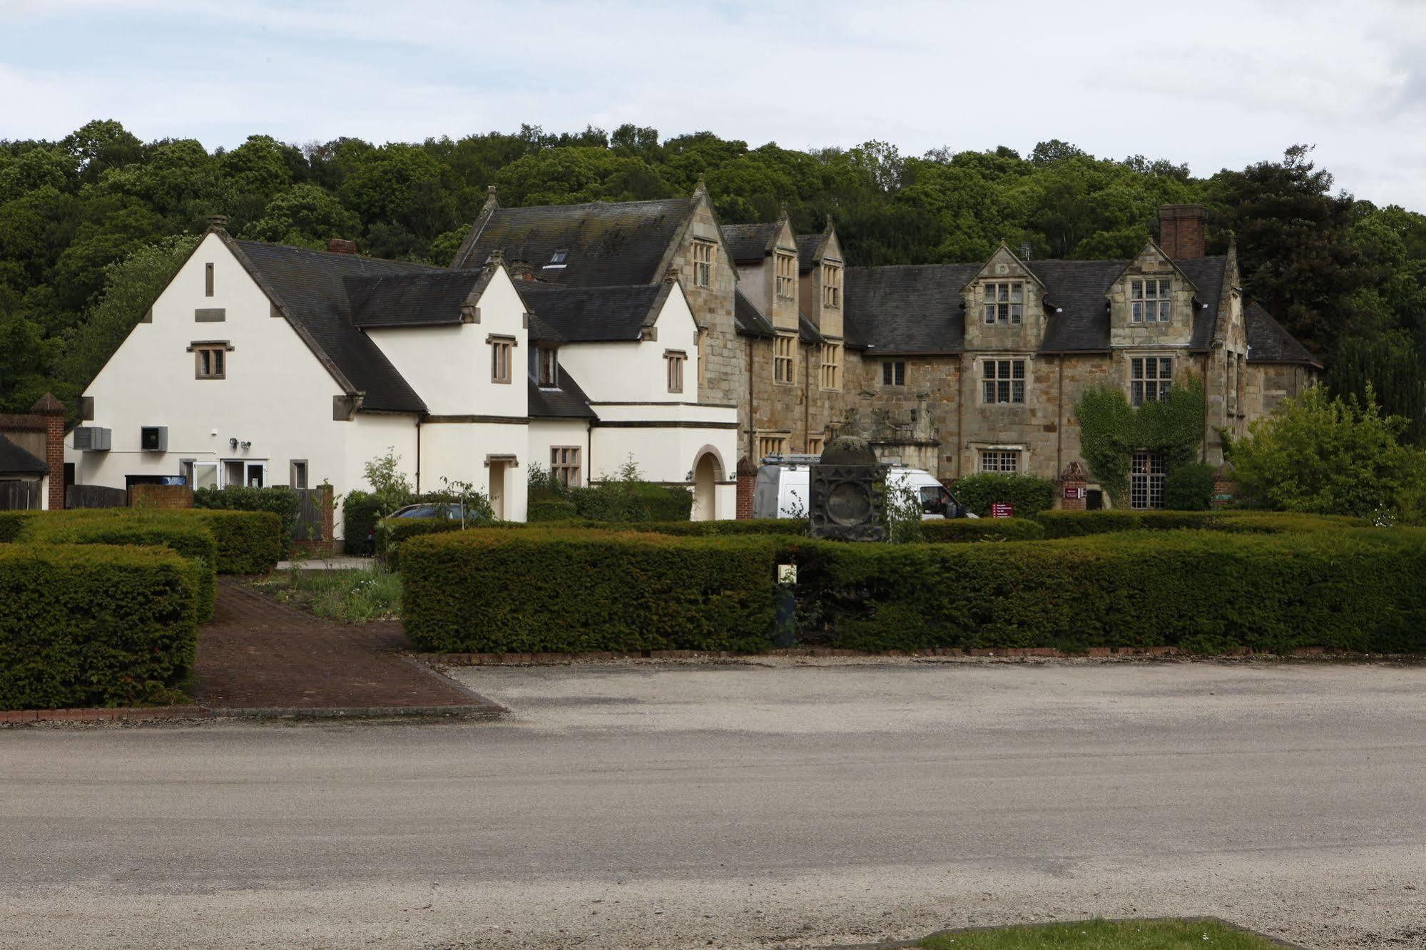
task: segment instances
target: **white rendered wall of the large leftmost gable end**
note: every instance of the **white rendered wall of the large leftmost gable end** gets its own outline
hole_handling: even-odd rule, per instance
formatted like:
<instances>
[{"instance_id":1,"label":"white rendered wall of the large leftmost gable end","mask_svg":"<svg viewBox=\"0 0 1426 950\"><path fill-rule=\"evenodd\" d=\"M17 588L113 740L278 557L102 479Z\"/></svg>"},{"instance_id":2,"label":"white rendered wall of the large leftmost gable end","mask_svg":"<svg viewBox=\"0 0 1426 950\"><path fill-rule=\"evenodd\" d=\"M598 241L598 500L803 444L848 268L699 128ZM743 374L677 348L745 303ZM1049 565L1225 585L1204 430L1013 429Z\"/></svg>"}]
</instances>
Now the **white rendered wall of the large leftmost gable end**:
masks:
<instances>
[{"instance_id":1,"label":"white rendered wall of the large leftmost gable end","mask_svg":"<svg viewBox=\"0 0 1426 950\"><path fill-rule=\"evenodd\" d=\"M204 295L207 264L214 265L212 297ZM221 322L195 321L197 308L220 307ZM94 399L94 419L84 425L111 429L113 448L76 452L70 435L66 461L74 462L76 482L123 488L125 475L178 475L183 459L242 459L265 461L267 484L287 485L289 462L307 459L309 485L328 479L345 492L358 486L371 446L402 451L396 429L414 435L415 418L334 421L332 397L341 387L287 320L271 312L222 241L207 235L154 301L153 322L134 327L84 391ZM188 347L205 339L232 345L224 379L194 378ZM140 451L145 425L168 427L167 452Z\"/></svg>"}]
</instances>

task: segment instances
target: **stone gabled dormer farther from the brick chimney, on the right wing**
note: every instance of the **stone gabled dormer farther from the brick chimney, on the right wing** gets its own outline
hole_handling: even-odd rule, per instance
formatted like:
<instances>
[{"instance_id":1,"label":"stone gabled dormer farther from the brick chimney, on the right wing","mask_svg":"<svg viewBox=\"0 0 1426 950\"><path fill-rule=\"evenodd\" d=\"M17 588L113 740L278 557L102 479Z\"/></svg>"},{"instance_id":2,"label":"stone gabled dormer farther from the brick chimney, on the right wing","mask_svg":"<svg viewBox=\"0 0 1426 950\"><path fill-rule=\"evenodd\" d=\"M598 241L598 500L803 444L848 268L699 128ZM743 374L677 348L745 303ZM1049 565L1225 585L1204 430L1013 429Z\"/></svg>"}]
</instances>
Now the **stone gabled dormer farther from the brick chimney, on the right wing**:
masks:
<instances>
[{"instance_id":1,"label":"stone gabled dormer farther from the brick chimney, on the right wing","mask_svg":"<svg viewBox=\"0 0 1426 950\"><path fill-rule=\"evenodd\" d=\"M1001 245L961 288L967 349L1031 352L1045 335L1045 285Z\"/></svg>"}]
</instances>

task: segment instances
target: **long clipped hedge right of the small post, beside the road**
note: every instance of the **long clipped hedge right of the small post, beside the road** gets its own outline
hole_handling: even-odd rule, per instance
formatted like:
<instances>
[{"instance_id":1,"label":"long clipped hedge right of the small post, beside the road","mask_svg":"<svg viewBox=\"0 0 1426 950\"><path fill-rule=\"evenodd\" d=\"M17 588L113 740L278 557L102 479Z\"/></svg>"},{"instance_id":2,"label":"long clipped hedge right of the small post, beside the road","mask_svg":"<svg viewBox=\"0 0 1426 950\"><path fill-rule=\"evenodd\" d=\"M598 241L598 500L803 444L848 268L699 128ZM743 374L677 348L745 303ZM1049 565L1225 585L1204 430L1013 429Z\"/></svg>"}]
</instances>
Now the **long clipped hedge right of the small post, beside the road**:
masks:
<instances>
[{"instance_id":1,"label":"long clipped hedge right of the small post, beside the road","mask_svg":"<svg viewBox=\"0 0 1426 950\"><path fill-rule=\"evenodd\" d=\"M886 650L1426 650L1426 531L793 542L804 639Z\"/></svg>"}]
</instances>

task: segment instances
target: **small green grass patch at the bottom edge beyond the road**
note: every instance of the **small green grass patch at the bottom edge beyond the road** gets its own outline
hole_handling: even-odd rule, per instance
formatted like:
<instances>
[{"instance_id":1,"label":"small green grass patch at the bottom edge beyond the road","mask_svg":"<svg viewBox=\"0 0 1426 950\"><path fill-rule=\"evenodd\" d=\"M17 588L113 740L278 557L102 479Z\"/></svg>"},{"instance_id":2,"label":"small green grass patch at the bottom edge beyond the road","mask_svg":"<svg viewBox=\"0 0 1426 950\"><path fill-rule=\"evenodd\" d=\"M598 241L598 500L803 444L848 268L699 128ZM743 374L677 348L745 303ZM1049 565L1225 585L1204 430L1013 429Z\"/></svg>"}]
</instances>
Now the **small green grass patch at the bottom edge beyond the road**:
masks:
<instances>
[{"instance_id":1,"label":"small green grass patch at the bottom edge beyond the road","mask_svg":"<svg viewBox=\"0 0 1426 950\"><path fill-rule=\"evenodd\" d=\"M937 934L925 950L1271 950L1281 946L1212 920L1082 920Z\"/></svg>"}]
</instances>

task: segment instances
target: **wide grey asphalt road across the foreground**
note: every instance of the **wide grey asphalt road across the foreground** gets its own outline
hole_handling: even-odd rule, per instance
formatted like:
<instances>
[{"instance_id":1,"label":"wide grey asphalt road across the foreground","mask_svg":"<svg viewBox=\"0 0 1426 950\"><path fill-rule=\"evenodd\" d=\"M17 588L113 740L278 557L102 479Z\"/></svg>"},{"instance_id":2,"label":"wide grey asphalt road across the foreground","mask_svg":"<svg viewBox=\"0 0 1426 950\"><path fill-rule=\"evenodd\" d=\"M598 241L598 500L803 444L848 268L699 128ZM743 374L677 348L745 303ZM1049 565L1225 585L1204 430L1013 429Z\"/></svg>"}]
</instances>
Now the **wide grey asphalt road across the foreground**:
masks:
<instances>
[{"instance_id":1,"label":"wide grey asphalt road across the foreground","mask_svg":"<svg viewBox=\"0 0 1426 950\"><path fill-rule=\"evenodd\" d=\"M461 676L513 716L0 730L0 946L1426 946L1426 668Z\"/></svg>"}]
</instances>

